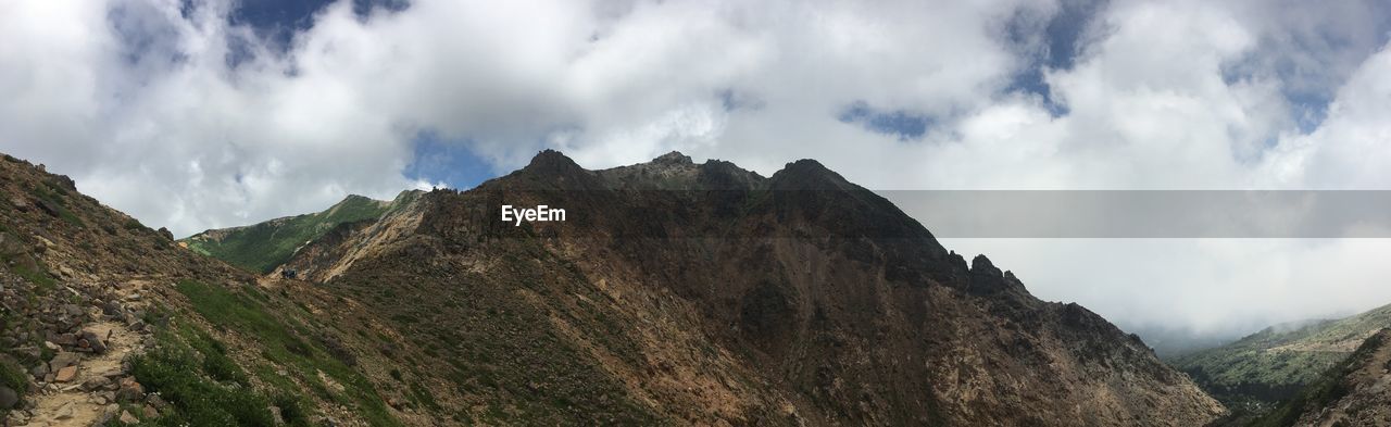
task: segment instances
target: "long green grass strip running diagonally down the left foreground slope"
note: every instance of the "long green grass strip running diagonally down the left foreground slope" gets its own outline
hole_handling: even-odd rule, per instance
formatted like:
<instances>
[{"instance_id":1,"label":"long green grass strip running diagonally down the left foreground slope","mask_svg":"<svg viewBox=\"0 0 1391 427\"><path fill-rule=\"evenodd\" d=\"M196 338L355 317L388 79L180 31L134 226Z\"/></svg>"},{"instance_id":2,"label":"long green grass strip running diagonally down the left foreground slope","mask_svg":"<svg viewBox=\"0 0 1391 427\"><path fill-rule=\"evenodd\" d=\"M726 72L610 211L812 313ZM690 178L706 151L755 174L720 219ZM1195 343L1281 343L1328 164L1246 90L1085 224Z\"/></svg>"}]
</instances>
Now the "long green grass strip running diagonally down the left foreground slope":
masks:
<instances>
[{"instance_id":1,"label":"long green grass strip running diagonally down the left foreground slope","mask_svg":"<svg viewBox=\"0 0 1391 427\"><path fill-rule=\"evenodd\" d=\"M356 408L357 413L373 426L399 424L366 377L313 341L302 338L312 337L303 325L292 320L277 319L271 314L273 310L267 310L262 302L245 295L245 292L191 280L179 281L175 289L184 293L193 310L214 327L235 331L260 342L264 346L262 353L264 357L284 366L291 371L291 376L312 388L316 395L348 408ZM206 335L195 335L191 342L191 346L198 348L204 356L223 352L221 345ZM209 378L221 377L231 382L246 382L246 374L230 359L218 360L221 357L224 356L213 356L211 362L204 357L192 366L196 366ZM342 385L342 389L327 387L320 373ZM277 376L257 371L257 377L267 380L267 377ZM275 384L281 389L282 399L300 394L300 389L289 381L267 382Z\"/></svg>"}]
</instances>

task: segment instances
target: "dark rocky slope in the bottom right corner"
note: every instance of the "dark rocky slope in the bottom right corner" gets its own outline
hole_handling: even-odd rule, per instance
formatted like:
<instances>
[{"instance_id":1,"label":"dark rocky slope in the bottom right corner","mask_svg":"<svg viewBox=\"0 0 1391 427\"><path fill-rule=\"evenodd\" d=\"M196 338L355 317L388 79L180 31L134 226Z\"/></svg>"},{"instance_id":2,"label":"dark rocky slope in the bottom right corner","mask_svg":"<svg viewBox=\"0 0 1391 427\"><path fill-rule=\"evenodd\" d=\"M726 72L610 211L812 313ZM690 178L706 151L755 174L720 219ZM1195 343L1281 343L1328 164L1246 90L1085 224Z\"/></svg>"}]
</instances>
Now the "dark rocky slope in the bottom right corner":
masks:
<instances>
[{"instance_id":1,"label":"dark rocky slope in the bottom right corner","mask_svg":"<svg viewBox=\"0 0 1391 427\"><path fill-rule=\"evenodd\" d=\"M1391 426L1388 371L1391 330L1383 328L1252 426Z\"/></svg>"}]
</instances>

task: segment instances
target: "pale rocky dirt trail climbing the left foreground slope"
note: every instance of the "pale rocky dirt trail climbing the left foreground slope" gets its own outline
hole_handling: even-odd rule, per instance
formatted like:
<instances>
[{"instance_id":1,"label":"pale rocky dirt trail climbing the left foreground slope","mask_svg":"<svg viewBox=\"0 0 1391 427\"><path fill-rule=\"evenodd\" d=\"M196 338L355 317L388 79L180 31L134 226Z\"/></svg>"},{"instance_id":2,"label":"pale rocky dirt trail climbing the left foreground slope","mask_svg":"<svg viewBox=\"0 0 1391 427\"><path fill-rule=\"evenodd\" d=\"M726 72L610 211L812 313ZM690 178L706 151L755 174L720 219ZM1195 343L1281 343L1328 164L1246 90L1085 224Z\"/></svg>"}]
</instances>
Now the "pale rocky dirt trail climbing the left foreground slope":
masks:
<instances>
[{"instance_id":1,"label":"pale rocky dirt trail climbing the left foreground slope","mask_svg":"<svg viewBox=\"0 0 1391 427\"><path fill-rule=\"evenodd\" d=\"M106 339L107 351L102 355L83 353L72 381L51 384L42 394L31 396L36 408L33 417L24 426L85 427L100 420L107 412L117 410L115 403L96 396L102 391L83 391L82 384L97 377L107 377L111 384L120 381L124 376L121 362L140 345L140 335L115 321L93 323L85 330L96 332L97 337L110 337Z\"/></svg>"}]
</instances>

